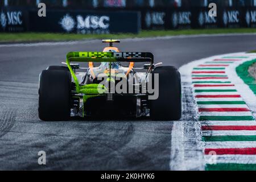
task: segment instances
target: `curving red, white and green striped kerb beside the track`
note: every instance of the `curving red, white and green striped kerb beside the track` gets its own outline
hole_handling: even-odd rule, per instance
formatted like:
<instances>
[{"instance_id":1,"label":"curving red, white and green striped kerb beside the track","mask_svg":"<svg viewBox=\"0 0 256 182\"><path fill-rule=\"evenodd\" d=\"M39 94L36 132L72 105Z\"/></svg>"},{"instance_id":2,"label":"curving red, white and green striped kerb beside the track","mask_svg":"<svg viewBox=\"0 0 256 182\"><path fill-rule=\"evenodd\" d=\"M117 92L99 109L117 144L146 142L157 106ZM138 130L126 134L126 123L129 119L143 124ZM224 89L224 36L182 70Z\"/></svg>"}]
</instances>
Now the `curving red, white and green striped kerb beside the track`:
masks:
<instances>
[{"instance_id":1,"label":"curving red, white and green striped kerb beside the track","mask_svg":"<svg viewBox=\"0 0 256 182\"><path fill-rule=\"evenodd\" d=\"M248 59L228 56L207 60L192 71L193 94L201 122L206 170L256 170L256 122L226 68Z\"/></svg>"}]
</instances>

